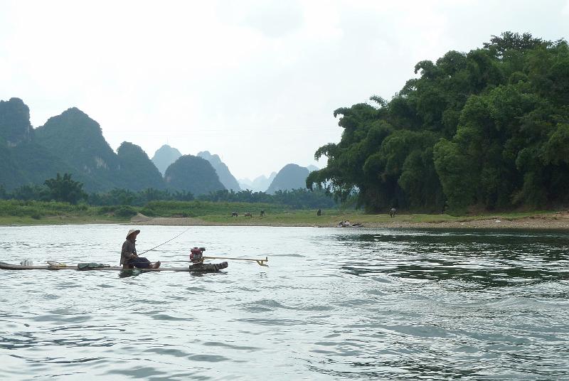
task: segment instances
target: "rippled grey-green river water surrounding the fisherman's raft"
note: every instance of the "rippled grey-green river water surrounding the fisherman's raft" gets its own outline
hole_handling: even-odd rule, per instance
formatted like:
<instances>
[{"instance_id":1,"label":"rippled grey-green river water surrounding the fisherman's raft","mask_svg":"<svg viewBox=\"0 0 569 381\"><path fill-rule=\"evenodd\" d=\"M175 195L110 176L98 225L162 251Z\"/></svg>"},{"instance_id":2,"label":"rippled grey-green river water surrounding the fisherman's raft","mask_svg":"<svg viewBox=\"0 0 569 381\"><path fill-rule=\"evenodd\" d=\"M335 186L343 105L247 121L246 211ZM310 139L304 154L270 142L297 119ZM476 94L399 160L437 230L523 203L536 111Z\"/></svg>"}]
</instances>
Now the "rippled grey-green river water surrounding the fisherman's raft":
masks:
<instances>
[{"instance_id":1,"label":"rippled grey-green river water surrounding the fisherman's raft","mask_svg":"<svg viewBox=\"0 0 569 381\"><path fill-rule=\"evenodd\" d=\"M128 228L0 227L0 261L118 264ZM137 248L184 230L143 227ZM0 379L567 380L568 244L562 232L191 227L146 256L206 246L270 267L0 270Z\"/></svg>"}]
</instances>

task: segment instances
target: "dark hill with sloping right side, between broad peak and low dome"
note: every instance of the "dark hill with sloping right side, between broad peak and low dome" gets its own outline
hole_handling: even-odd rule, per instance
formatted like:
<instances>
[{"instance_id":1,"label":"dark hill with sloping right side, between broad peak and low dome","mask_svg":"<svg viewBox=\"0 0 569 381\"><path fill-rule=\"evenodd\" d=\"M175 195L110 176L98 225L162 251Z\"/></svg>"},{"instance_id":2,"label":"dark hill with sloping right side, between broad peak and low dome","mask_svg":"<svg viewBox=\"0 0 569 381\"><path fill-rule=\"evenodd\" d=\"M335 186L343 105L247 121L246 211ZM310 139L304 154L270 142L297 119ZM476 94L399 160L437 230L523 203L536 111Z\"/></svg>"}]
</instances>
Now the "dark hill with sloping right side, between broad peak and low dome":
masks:
<instances>
[{"instance_id":1,"label":"dark hill with sloping right side, between broad peak and low dome","mask_svg":"<svg viewBox=\"0 0 569 381\"><path fill-rule=\"evenodd\" d=\"M164 178L146 152L136 144L124 141L117 149L119 159L118 188L142 191L146 188L162 189ZM120 183L123 186L120 186Z\"/></svg>"}]
</instances>

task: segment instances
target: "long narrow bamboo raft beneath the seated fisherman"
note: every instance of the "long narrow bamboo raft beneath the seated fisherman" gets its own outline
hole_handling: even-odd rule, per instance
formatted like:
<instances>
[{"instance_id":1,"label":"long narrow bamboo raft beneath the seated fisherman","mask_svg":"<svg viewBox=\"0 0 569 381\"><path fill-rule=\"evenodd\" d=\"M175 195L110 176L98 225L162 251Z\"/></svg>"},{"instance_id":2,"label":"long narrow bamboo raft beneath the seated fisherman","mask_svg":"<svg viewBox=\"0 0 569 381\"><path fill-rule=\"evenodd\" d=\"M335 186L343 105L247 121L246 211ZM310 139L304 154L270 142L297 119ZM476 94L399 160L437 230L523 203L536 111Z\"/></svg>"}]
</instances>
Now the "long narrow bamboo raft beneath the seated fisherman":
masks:
<instances>
[{"instance_id":1,"label":"long narrow bamboo raft beneath the seated fisherman","mask_svg":"<svg viewBox=\"0 0 569 381\"><path fill-rule=\"evenodd\" d=\"M26 266L22 264L9 264L5 262L0 262L0 269L3 270L75 270L75 271L119 271L119 272L129 272L137 270L139 272L218 272L220 269L225 269L228 267L227 262L220 262L220 263L202 263L202 264L192 264L189 267L159 267L158 269L123 269L122 266L110 266L105 264L100 264L100 266L92 266L92 267L81 267L78 264L76 266L67 266L67 265L45 265L45 266L37 266L31 265Z\"/></svg>"}]
</instances>

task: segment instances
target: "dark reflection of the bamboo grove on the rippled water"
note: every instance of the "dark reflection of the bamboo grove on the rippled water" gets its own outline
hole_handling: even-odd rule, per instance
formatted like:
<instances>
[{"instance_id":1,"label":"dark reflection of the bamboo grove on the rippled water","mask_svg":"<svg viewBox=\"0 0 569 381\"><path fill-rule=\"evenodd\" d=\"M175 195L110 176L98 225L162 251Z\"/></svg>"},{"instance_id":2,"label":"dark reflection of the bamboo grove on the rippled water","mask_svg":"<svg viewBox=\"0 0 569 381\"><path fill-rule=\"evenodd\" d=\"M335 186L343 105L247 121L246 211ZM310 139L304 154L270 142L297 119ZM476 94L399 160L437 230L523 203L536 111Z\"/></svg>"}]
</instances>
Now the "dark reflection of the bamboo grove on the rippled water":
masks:
<instances>
[{"instance_id":1,"label":"dark reflection of the bamboo grove on the rippled water","mask_svg":"<svg viewBox=\"0 0 569 381\"><path fill-rule=\"evenodd\" d=\"M568 279L564 233L403 232L336 237L347 248L342 269L353 275L435 281L467 281L484 286ZM347 252L347 249L346 249Z\"/></svg>"}]
</instances>

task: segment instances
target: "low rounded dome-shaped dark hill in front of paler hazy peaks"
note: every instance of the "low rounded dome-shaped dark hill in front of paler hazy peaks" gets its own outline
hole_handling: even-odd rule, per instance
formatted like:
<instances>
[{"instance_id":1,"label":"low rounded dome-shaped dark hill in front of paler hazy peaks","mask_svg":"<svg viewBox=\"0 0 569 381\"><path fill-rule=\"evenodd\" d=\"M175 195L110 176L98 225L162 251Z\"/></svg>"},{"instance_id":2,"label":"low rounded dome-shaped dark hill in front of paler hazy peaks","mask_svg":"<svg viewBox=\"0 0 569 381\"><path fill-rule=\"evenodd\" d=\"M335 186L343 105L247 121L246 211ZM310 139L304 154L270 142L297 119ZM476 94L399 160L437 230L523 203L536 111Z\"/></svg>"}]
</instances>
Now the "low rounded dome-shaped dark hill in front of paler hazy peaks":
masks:
<instances>
[{"instance_id":1,"label":"low rounded dome-shaped dark hill in front of paler hazy peaks","mask_svg":"<svg viewBox=\"0 0 569 381\"><path fill-rule=\"evenodd\" d=\"M166 186L202 195L225 189L211 163L201 157L184 155L174 161L164 175Z\"/></svg>"}]
</instances>

